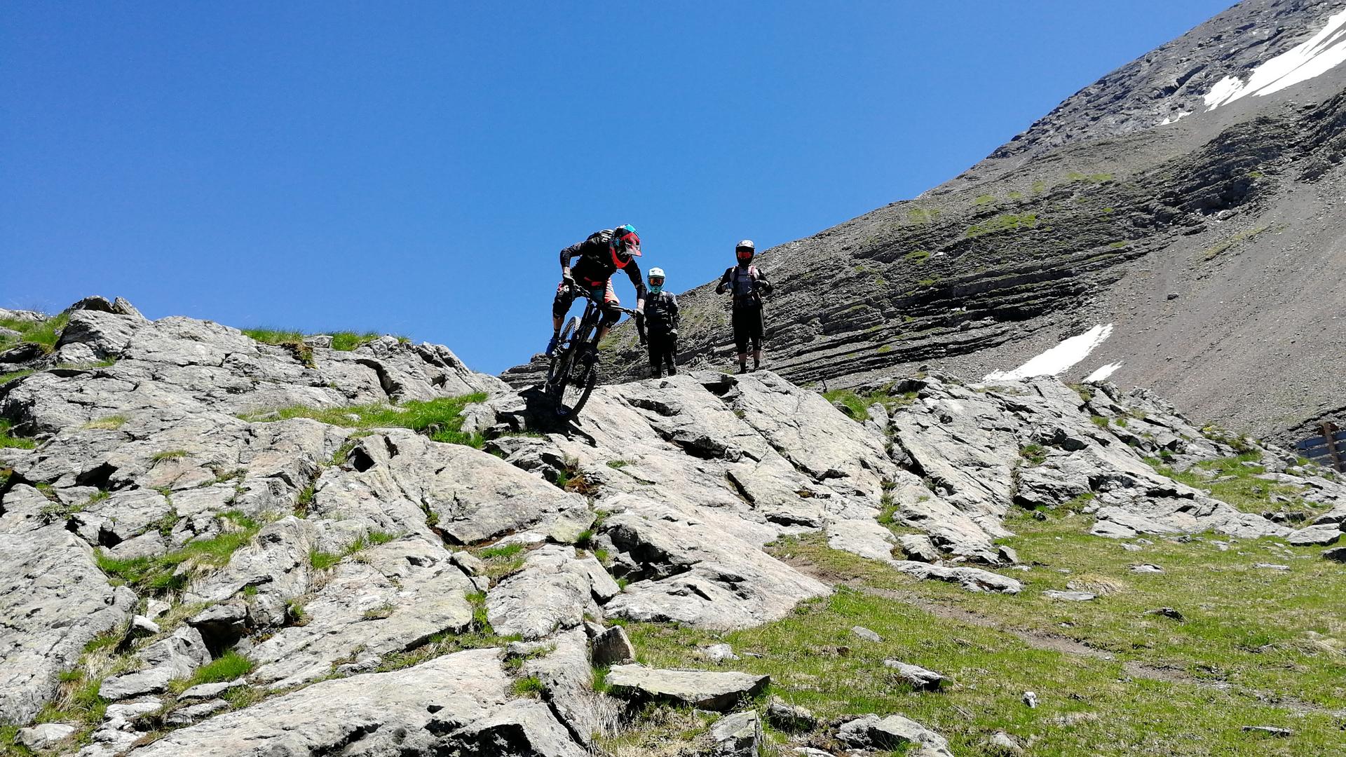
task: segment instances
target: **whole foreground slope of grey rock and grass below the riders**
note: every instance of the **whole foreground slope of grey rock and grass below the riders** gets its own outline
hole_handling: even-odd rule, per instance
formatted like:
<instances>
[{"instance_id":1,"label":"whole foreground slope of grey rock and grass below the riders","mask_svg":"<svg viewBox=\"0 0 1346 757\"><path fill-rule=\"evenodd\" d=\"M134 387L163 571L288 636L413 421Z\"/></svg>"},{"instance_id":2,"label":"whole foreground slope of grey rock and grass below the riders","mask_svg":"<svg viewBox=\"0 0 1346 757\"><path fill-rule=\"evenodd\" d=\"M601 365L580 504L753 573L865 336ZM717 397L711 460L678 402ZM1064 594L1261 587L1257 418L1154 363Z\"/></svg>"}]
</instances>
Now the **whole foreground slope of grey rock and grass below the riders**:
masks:
<instances>
[{"instance_id":1,"label":"whole foreground slope of grey rock and grass below the riders","mask_svg":"<svg viewBox=\"0 0 1346 757\"><path fill-rule=\"evenodd\" d=\"M929 374L833 405L769 372L693 372L602 387L556 427L534 391L441 346L271 345L102 298L54 319L0 315L24 339L0 353L9 753L1101 754L1174 734L1222 753L1342 746L1346 703L1315 688L1343 667L1339 616L1320 625L1322 607L1285 613L1287 640L1323 629L1279 648L1296 673L1268 679L1264 649L1202 641L1232 665L1215 680L1065 626L992 637L989 616L937 607L960 601L937 599L945 587L1051 622L1058 605L1127 601L1121 581L1051 567L1067 541L1020 555L1014 531L1039 524L1078 525L1069 543L1100 555L1170 555L1175 583L1179 555L1218 546L1221 570L1284 568L1288 601L1331 595L1343 556L1320 552L1341 537L1346 485L1202 432L1147 392ZM884 603L848 610L871 595ZM1187 626L1154 616L1171 640L1242 640L1233 622L1281 643L1277 621L1180 603L1163 609ZM964 625L941 630L956 612ZM899 633L903 618L919 628ZM802 622L826 624L824 638ZM680 633L701 636L661 641ZM735 633L765 636L738 653L709 643ZM981 652L940 659L948 638ZM804 673L820 660L836 667ZM851 661L863 679L840 676ZM1034 691L1024 671L1042 676ZM1078 690L1081 676L1112 692ZM848 691L820 695L839 680ZM1184 714L1117 725L1149 696Z\"/></svg>"}]
</instances>

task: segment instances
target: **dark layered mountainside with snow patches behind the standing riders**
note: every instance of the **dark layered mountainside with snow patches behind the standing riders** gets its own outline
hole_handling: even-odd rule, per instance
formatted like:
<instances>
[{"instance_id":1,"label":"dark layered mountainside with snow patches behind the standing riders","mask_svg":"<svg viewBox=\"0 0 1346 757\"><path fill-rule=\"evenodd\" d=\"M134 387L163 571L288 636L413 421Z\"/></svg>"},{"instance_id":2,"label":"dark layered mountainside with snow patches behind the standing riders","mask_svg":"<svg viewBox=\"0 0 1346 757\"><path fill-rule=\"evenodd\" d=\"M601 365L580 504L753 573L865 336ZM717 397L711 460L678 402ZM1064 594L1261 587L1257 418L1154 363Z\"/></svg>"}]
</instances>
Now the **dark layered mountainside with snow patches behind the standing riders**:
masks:
<instances>
[{"instance_id":1,"label":"dark layered mountainside with snow patches behind the standing riders","mask_svg":"<svg viewBox=\"0 0 1346 757\"><path fill-rule=\"evenodd\" d=\"M1240 3L946 185L765 252L771 368L832 388L980 377L1097 329L1034 370L1283 440L1346 420L1343 12ZM731 361L711 290L681 296L692 365ZM634 333L610 348L610 373L639 374Z\"/></svg>"}]
</instances>

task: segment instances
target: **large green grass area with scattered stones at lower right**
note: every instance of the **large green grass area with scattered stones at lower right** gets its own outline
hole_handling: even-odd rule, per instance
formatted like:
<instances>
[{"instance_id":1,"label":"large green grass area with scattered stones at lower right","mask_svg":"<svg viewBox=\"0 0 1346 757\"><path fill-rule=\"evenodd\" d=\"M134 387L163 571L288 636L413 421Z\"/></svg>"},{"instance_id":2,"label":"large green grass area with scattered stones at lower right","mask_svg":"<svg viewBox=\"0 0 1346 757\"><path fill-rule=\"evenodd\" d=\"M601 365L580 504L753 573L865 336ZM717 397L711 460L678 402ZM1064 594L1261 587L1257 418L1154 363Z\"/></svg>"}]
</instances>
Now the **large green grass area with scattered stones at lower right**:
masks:
<instances>
[{"instance_id":1,"label":"large green grass area with scattered stones at lower right","mask_svg":"<svg viewBox=\"0 0 1346 757\"><path fill-rule=\"evenodd\" d=\"M1008 523L1019 536L1005 543L1034 566L1014 574L1026 582L1018 597L922 582L828 550L813 535L773 552L813 563L853 589L730 633L625 625L647 665L705 668L697 649L724 641L740 655L743 655L735 667L771 675L774 694L787 703L820 718L902 713L946 735L954 754L985 754L981 741L996 730L1031 741L1032 754L1342 753L1346 734L1326 710L1346 698L1346 663L1335 651L1346 632L1339 566L1299 550L1306 559L1295 560L1289 575L1252 568L1269 541L1222 552L1210 541L1159 540L1127 552L1088 535L1092 523L1081 516ZM1137 562L1166 572L1131 572ZM1110 589L1094 602L1042 595L1071 582ZM1186 620L1151 614L1163 606ZM855 644L853 625L883 641ZM1019 636L1026 632L1082 641L1114 659L1035 644ZM938 671L952 684L938 694L913 692L887 672L887 659ZM1140 675L1132 665L1158 672ZM1036 709L1020 702L1030 690ZM1245 725L1288 727L1295 735L1261 738L1244 733Z\"/></svg>"}]
</instances>

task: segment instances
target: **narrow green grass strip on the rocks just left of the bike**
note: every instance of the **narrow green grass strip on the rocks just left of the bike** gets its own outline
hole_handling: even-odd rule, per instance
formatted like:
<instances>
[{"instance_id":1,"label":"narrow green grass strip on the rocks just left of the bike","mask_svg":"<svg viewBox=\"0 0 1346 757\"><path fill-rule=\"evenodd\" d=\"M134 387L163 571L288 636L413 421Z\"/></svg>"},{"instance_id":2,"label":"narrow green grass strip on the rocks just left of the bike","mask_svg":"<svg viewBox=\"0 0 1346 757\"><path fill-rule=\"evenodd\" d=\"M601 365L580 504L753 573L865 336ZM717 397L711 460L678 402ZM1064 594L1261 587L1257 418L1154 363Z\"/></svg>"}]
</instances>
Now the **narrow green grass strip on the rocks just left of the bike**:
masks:
<instances>
[{"instance_id":1,"label":"narrow green grass strip on the rocks just left of the bike","mask_svg":"<svg viewBox=\"0 0 1346 757\"><path fill-rule=\"evenodd\" d=\"M460 397L439 397L433 400L411 400L400 405L367 404L334 408L287 407L267 412L246 414L240 418L250 422L287 420L291 418L311 418L331 426L345 428L411 428L428 435L436 442L467 445L481 449L485 445L481 434L464 434L463 408L472 403L486 401L486 393L478 392ZM349 454L349 450L347 450Z\"/></svg>"}]
</instances>

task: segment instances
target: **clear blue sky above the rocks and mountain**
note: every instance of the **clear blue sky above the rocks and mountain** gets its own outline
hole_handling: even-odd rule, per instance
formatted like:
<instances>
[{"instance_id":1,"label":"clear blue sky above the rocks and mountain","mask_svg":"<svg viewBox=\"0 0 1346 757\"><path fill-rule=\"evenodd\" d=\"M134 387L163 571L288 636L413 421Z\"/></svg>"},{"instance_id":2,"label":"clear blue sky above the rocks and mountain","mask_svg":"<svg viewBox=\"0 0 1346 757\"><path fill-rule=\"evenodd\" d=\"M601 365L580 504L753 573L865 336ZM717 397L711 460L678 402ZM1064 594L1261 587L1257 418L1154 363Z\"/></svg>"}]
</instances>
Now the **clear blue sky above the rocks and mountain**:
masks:
<instances>
[{"instance_id":1,"label":"clear blue sky above the rocks and mountain","mask_svg":"<svg viewBox=\"0 0 1346 757\"><path fill-rule=\"evenodd\" d=\"M498 372L590 232L634 224L690 288L1228 4L4 3L0 306L373 329Z\"/></svg>"}]
</instances>

